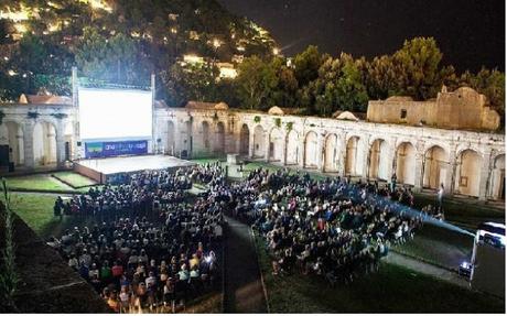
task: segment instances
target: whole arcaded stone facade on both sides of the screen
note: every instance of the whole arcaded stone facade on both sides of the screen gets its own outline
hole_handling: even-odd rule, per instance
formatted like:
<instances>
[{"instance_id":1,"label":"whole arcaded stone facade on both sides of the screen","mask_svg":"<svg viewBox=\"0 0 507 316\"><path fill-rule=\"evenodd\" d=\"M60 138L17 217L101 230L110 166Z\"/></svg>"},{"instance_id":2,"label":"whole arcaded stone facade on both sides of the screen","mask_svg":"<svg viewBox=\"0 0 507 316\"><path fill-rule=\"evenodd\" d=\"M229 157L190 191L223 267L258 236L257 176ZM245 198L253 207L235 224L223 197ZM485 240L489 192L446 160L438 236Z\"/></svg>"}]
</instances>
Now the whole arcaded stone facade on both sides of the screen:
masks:
<instances>
[{"instance_id":1,"label":"whole arcaded stone facade on both sides of the screen","mask_svg":"<svg viewBox=\"0 0 507 316\"><path fill-rule=\"evenodd\" d=\"M157 106L158 105L158 106ZM22 168L80 159L76 108L0 106L0 145ZM273 112L273 111L271 111ZM505 135L230 110L224 103L154 108L152 153L183 159L238 153L333 175L389 181L479 199L505 198Z\"/></svg>"}]
</instances>

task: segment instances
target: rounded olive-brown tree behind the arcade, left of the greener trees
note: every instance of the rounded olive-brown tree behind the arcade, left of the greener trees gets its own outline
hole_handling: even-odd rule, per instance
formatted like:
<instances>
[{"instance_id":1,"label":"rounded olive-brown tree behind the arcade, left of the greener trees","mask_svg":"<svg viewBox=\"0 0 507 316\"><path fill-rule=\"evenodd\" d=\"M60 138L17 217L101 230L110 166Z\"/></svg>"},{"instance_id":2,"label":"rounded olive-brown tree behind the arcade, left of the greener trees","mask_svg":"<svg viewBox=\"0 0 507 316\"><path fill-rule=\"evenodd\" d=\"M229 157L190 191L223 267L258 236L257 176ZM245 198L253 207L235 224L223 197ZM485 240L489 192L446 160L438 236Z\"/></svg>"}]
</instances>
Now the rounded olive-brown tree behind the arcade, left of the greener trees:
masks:
<instances>
[{"instance_id":1,"label":"rounded olive-brown tree behind the arcade, left of the greener trees","mask_svg":"<svg viewBox=\"0 0 507 316\"><path fill-rule=\"evenodd\" d=\"M258 56L247 57L238 67L237 94L241 107L267 109L269 97L278 85L277 74L270 64Z\"/></svg>"}]
</instances>

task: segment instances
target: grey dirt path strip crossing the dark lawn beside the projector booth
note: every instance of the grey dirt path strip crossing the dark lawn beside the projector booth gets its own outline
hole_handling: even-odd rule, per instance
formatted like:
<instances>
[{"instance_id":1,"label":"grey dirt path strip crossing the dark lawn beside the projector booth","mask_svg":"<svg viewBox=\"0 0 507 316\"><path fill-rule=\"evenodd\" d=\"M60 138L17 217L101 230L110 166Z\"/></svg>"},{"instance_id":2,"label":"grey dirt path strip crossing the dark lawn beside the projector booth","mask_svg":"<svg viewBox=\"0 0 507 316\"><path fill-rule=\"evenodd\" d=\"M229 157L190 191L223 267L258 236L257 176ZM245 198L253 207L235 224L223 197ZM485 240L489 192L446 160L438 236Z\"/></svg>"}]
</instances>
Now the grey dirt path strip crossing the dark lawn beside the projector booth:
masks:
<instances>
[{"instance_id":1,"label":"grey dirt path strip crossing the dark lawn beside the projector booth","mask_svg":"<svg viewBox=\"0 0 507 316\"><path fill-rule=\"evenodd\" d=\"M449 283L464 288L470 288L468 282L464 277L460 276L457 273L443 268L435 266L430 263L412 259L403 254L399 254L391 251L389 252L389 255L384 259L384 261L387 263L401 265L403 268L413 270L416 272L420 272L422 274L434 276L436 279L446 281Z\"/></svg>"}]
</instances>

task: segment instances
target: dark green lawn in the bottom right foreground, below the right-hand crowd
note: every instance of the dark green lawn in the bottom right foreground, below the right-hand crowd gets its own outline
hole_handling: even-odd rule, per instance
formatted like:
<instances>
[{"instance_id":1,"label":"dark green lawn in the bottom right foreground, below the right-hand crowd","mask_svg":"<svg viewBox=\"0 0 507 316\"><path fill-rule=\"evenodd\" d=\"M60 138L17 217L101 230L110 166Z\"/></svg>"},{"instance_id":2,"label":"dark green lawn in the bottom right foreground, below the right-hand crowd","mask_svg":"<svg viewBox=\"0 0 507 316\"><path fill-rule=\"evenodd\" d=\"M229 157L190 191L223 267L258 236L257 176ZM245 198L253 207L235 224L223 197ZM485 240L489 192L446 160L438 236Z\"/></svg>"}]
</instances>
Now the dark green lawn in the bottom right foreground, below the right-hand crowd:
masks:
<instances>
[{"instance_id":1,"label":"dark green lawn in the bottom right foreground, below the right-hand crowd","mask_svg":"<svg viewBox=\"0 0 507 316\"><path fill-rule=\"evenodd\" d=\"M402 266L330 287L316 276L273 276L257 241L271 313L503 313L504 301L471 292Z\"/></svg>"}]
</instances>

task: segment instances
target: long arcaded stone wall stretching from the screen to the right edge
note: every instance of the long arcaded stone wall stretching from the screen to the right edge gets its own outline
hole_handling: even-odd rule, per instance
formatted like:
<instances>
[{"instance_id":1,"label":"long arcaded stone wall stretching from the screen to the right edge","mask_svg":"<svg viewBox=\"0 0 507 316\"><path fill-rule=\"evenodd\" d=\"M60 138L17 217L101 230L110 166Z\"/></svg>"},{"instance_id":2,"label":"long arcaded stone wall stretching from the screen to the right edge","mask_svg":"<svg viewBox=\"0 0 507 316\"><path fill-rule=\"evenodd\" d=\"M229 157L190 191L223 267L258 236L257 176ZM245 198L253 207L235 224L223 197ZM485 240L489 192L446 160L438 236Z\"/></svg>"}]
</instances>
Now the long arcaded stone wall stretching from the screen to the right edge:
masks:
<instances>
[{"instance_id":1,"label":"long arcaded stone wall stretching from the screen to the right edge","mask_svg":"<svg viewBox=\"0 0 507 316\"><path fill-rule=\"evenodd\" d=\"M235 110L168 108L158 109L157 118L157 138L164 148L174 142L176 156L244 149L245 156L281 165L380 181L396 173L416 189L443 184L447 193L501 196L503 134Z\"/></svg>"}]
</instances>

